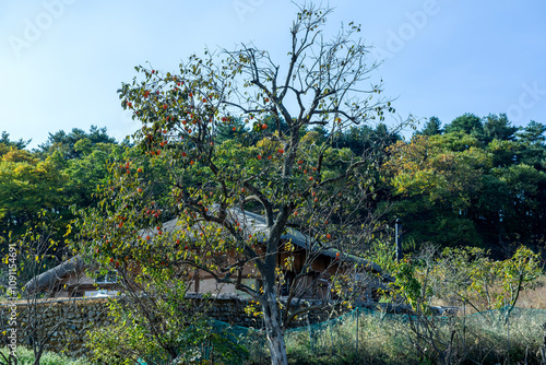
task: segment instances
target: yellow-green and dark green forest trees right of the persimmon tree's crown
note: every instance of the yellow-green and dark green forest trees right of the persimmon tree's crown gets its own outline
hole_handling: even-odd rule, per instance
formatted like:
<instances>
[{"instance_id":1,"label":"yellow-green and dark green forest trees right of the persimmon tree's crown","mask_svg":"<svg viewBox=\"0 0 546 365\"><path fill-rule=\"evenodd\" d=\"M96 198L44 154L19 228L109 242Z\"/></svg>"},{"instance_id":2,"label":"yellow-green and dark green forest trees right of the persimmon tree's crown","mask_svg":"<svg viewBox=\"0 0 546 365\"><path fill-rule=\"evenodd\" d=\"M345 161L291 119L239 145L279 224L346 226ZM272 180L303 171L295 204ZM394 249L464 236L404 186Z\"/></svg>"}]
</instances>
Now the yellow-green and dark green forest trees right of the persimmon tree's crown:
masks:
<instances>
[{"instance_id":1,"label":"yellow-green and dark green forest trees right of the persimmon tree's crown","mask_svg":"<svg viewBox=\"0 0 546 365\"><path fill-rule=\"evenodd\" d=\"M515 133L506 115L489 115L479 136L476 116L455 120L446 134L392 150L385 170L396 173L384 177L395 187L391 217L416 243L485 246L499 257L518 243L542 247L546 127L532 121Z\"/></svg>"}]
</instances>

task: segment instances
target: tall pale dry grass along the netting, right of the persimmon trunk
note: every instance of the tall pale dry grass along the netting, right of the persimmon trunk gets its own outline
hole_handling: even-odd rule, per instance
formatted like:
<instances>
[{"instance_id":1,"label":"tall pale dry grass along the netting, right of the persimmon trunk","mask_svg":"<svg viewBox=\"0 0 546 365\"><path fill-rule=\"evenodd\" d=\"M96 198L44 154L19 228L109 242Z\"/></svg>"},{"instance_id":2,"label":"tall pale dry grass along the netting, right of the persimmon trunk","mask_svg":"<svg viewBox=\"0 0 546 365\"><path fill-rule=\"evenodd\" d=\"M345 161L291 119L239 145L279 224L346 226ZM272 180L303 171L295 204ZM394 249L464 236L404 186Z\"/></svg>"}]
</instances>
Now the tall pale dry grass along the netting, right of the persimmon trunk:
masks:
<instances>
[{"instance_id":1,"label":"tall pale dry grass along the netting, right of the persimmon trunk","mask_svg":"<svg viewBox=\"0 0 546 365\"><path fill-rule=\"evenodd\" d=\"M436 299L434 305L459 306L461 303L454 298ZM485 303L479 306L486 307ZM524 309L515 308L507 321L501 310L476 314L466 306L466 317L432 321L432 327L428 327L431 333L428 345L437 341L438 349L446 349L446 340L453 338L456 361L463 364L538 364L546 311L531 309L546 310L546 275L538 279L536 289L521 292L517 307ZM358 321L356 318L352 313L339 321L311 326L311 333L308 329L287 333L289 363L417 365L438 362L438 353L427 356L417 352L419 345L427 348L427 341L417 340L407 317L361 311ZM426 322L428 325L423 326L430 326ZM260 344L260 356L257 356L257 348L249 349L253 353L252 364L263 364L268 358L265 340Z\"/></svg>"}]
</instances>

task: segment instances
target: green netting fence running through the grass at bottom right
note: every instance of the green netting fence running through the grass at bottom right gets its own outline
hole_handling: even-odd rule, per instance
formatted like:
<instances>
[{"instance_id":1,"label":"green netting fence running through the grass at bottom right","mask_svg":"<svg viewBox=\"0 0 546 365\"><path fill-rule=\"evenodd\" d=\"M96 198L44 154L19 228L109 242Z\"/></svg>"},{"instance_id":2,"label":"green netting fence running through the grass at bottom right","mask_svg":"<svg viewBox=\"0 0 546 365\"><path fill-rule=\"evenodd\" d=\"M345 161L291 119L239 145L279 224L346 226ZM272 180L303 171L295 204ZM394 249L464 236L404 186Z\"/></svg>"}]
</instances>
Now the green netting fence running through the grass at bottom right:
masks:
<instances>
[{"instance_id":1,"label":"green netting fence running through the grass at bottom right","mask_svg":"<svg viewBox=\"0 0 546 365\"><path fill-rule=\"evenodd\" d=\"M541 364L546 310L505 307L473 315L417 317L355 308L337 318L286 331L294 364ZM213 321L250 353L249 364L266 364L261 329Z\"/></svg>"}]
</instances>

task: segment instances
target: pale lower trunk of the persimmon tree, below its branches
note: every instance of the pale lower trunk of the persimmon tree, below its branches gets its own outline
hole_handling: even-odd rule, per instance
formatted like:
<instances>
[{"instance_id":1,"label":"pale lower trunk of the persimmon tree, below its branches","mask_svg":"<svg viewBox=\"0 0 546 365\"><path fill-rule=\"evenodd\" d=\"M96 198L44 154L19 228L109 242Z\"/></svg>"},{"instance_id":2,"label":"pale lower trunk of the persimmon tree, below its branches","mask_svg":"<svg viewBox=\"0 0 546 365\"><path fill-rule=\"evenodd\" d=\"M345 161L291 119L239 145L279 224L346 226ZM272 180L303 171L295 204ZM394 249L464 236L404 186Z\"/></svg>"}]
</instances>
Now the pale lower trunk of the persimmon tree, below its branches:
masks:
<instances>
[{"instance_id":1,"label":"pale lower trunk of the persimmon tree, below its branches","mask_svg":"<svg viewBox=\"0 0 546 365\"><path fill-rule=\"evenodd\" d=\"M282 329L282 318L278 314L274 293L265 293L265 302L262 303L263 320L265 322L265 333L271 352L272 365L287 365L286 344Z\"/></svg>"}]
</instances>

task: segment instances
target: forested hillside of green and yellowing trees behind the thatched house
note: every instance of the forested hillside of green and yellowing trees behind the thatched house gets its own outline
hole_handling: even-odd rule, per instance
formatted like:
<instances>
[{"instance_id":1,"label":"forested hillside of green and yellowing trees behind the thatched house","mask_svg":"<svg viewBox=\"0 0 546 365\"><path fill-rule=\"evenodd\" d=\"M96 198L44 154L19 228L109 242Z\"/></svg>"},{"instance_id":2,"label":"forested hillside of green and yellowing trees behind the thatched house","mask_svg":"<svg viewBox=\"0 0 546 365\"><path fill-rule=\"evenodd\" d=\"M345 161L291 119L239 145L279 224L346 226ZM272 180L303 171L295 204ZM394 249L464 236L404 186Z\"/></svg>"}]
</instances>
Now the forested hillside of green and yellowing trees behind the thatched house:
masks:
<instances>
[{"instance_id":1,"label":"forested hillside of green and yellowing trees behind the thatched house","mask_svg":"<svg viewBox=\"0 0 546 365\"><path fill-rule=\"evenodd\" d=\"M265 120L262 128L274 132L286 127ZM538 249L544 244L545 131L546 126L536 121L515 128L502 114L465 114L443 127L432 117L407 141L384 125L335 136L320 127L301 134L311 143L332 138L332 156L369 156L375 172L365 187L370 193L366 209L360 208L363 221L365 215L380 216L375 223L381 225L400 217L406 248L424 243L478 246L505 256L520 244ZM216 143L226 153L252 153L261 143L261 132L233 119L219 128ZM22 234L37 222L40 211L55 222L56 236L62 237L74 209L95 203L94 191L108 181L111 165L119 161L142 160L151 184L161 180L164 170L135 146L115 141L104 128L57 131L33 151L27 144L10 140L5 131L0 139L3 248L9 232ZM335 169L335 161L325 167ZM152 193L161 204L164 191ZM165 219L176 214L173 207L162 210Z\"/></svg>"}]
</instances>

